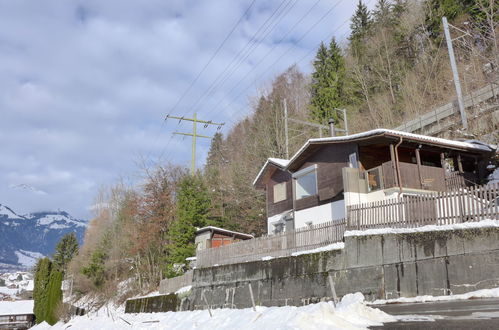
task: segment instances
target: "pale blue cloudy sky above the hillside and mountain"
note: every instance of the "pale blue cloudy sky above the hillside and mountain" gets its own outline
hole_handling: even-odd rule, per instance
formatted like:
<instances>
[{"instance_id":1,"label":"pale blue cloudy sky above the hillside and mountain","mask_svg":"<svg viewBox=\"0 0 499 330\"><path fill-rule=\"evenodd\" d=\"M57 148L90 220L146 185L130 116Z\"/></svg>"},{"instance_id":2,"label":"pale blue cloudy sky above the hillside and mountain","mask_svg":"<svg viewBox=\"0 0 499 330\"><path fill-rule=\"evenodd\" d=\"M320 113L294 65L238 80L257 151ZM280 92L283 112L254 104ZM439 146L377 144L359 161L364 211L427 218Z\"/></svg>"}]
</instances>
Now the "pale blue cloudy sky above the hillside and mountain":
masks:
<instances>
[{"instance_id":1,"label":"pale blue cloudy sky above the hillside and mountain","mask_svg":"<svg viewBox=\"0 0 499 330\"><path fill-rule=\"evenodd\" d=\"M189 167L191 140L172 133L192 123L166 115L228 132L275 75L310 72L321 41L346 39L356 3L0 0L0 204L88 219L140 164Z\"/></svg>"}]
</instances>

